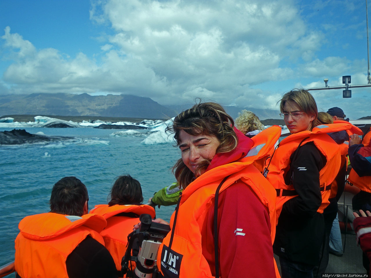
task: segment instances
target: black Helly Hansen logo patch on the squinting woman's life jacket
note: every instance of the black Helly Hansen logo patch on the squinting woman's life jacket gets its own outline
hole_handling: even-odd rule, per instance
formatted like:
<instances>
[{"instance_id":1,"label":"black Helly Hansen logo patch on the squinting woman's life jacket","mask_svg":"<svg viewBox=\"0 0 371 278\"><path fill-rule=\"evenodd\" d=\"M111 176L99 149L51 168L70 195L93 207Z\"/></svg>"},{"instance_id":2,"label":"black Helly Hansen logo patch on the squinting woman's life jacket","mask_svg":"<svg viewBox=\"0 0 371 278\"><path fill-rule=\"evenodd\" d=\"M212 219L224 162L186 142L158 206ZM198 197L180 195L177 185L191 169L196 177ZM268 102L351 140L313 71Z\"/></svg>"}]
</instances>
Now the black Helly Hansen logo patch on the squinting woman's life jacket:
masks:
<instances>
[{"instance_id":1,"label":"black Helly Hansen logo patch on the squinting woman's life jacket","mask_svg":"<svg viewBox=\"0 0 371 278\"><path fill-rule=\"evenodd\" d=\"M179 278L183 255L171 250L166 245L161 252L161 271L165 277Z\"/></svg>"}]
</instances>

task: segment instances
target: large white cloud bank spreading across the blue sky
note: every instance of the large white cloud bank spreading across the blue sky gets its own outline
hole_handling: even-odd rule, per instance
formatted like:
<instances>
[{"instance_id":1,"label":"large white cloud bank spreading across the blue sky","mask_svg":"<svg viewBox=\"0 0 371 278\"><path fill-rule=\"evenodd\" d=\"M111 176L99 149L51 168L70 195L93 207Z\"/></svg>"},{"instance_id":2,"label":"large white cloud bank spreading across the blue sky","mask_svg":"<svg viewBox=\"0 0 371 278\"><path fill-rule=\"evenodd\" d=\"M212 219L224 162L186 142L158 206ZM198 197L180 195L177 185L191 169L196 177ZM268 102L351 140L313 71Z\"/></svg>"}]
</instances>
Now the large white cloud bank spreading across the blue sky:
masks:
<instances>
[{"instance_id":1,"label":"large white cloud bank spreading across the blue sky","mask_svg":"<svg viewBox=\"0 0 371 278\"><path fill-rule=\"evenodd\" d=\"M36 49L7 27L1 38L14 63L4 82L11 92L122 92L161 104L201 97L277 109L292 84L324 86L328 77L334 86L344 72L360 72L364 61L321 55L324 45L332 47L326 34L340 32L344 23L313 28L311 19L320 9L332 12L333 5L332 0L305 7L293 0L92 1L92 22L111 28L99 34L96 60L84 53L69 57L58 49ZM357 28L352 22L348 28ZM280 88L264 85L273 82L287 87L277 93ZM317 96L325 102L324 95Z\"/></svg>"}]
</instances>

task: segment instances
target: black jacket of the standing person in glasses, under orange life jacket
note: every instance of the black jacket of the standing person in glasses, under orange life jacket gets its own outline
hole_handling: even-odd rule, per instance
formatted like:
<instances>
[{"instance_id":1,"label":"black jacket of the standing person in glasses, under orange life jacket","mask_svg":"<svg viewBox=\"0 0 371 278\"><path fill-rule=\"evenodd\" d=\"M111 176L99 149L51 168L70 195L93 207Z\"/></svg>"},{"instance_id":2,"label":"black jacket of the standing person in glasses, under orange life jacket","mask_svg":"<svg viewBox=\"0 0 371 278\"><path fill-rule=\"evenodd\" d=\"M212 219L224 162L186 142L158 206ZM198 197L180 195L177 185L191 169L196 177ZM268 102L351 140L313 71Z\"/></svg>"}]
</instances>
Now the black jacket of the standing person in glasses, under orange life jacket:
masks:
<instances>
[{"instance_id":1,"label":"black jacket of the standing person in glasses, under orange life jacket","mask_svg":"<svg viewBox=\"0 0 371 278\"><path fill-rule=\"evenodd\" d=\"M326 158L309 142L293 152L290 160L285 183L292 181L298 196L283 204L273 251L293 262L318 265L324 239L324 218L317 212L322 203L319 171Z\"/></svg>"}]
</instances>

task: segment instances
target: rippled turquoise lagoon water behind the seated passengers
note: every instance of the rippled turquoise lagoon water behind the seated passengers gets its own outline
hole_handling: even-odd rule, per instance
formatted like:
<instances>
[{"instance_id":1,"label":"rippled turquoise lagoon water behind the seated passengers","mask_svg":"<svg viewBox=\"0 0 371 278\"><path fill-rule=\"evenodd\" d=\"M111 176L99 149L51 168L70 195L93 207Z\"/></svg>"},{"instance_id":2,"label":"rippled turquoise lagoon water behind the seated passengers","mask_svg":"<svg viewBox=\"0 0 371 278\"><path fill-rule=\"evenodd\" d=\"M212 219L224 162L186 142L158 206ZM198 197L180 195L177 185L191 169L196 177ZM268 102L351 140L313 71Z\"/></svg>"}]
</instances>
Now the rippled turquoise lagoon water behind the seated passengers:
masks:
<instances>
[{"instance_id":1,"label":"rippled turquoise lagoon water behind the seated passengers","mask_svg":"<svg viewBox=\"0 0 371 278\"><path fill-rule=\"evenodd\" d=\"M4 130L11 129L0 129ZM48 212L52 186L64 176L76 176L86 185L89 209L107 203L109 189L118 175L130 174L141 183L144 202L175 180L171 167L180 153L171 143L144 145L141 141L145 137L114 137L109 134L117 130L94 128L26 131L79 139L0 146L0 265L14 260L19 221L27 215ZM157 217L167 221L173 211L174 206L156 208Z\"/></svg>"}]
</instances>

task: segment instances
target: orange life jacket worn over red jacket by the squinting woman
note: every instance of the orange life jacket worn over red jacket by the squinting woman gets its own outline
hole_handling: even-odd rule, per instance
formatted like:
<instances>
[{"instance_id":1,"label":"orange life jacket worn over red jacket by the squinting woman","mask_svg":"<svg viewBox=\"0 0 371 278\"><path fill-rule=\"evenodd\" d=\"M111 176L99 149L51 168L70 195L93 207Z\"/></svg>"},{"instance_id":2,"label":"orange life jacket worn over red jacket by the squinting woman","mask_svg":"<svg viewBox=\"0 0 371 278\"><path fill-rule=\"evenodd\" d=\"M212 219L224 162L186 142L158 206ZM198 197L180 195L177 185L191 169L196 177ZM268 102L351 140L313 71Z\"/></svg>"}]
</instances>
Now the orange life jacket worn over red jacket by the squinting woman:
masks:
<instances>
[{"instance_id":1,"label":"orange life jacket worn over red jacket by the squinting woman","mask_svg":"<svg viewBox=\"0 0 371 278\"><path fill-rule=\"evenodd\" d=\"M201 227L209 209L214 206L217 187L224 181L219 192L224 191L235 181L244 182L266 207L271 221L272 244L275 237L275 198L276 192L259 170L252 165L256 159L263 158L280 136L280 127L265 129L252 138L254 145L245 158L218 166L203 173L181 195L178 204L177 222L175 213L170 220L170 233L164 238L158 250L157 265L162 274L173 272L174 277L213 277L201 246ZM171 241L171 244L170 244ZM248 248L248 246L247 246ZM223 256L223 254L220 254ZM274 259L273 259L274 261ZM276 275L279 272L275 264ZM165 275L165 277L168 277Z\"/></svg>"}]
</instances>

